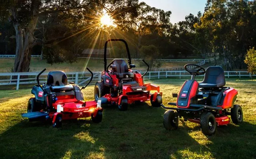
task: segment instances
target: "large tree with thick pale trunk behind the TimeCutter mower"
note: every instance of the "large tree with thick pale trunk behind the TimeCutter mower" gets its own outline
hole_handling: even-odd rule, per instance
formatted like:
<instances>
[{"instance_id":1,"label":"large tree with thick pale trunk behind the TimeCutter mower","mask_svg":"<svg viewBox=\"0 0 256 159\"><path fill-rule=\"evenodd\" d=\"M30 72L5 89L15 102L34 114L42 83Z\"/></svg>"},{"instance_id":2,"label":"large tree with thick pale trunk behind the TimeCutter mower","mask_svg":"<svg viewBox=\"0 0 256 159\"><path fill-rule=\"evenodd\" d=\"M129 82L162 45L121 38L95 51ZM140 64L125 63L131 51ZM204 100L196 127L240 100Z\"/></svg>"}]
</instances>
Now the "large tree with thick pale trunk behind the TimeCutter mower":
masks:
<instances>
[{"instance_id":1,"label":"large tree with thick pale trunk behind the TimeCutter mower","mask_svg":"<svg viewBox=\"0 0 256 159\"><path fill-rule=\"evenodd\" d=\"M35 31L39 28L38 19L45 17L44 21L48 21L50 15L56 16L69 15L79 16L81 13L88 13L93 11L92 8L97 7L95 1L80 1L80 0L8 0L4 1L0 7L0 11L6 16L15 29L16 37L16 52L14 72L29 71L30 56L32 49L38 44L49 44L56 40L63 39L63 34L49 39L41 39L35 36ZM102 7L101 7L102 8ZM97 10L97 9L96 9ZM7 18L7 17L5 17ZM41 21L42 22L42 21ZM75 23L69 23L75 24ZM72 25L71 25L72 26ZM69 28L70 30L70 28ZM66 35L66 34L64 34ZM41 36L42 37L42 36ZM47 40L47 41L44 41Z\"/></svg>"}]
</instances>

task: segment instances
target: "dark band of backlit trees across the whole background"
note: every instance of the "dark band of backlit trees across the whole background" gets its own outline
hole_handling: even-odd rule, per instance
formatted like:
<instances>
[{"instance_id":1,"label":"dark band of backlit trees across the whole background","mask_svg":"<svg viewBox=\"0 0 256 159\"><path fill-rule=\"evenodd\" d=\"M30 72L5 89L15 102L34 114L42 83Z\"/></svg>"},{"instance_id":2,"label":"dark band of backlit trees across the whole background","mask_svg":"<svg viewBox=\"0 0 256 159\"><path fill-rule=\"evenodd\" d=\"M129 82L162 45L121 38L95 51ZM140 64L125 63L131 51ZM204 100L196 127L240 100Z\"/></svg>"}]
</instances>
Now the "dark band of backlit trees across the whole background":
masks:
<instances>
[{"instance_id":1,"label":"dark band of backlit trees across the whole background","mask_svg":"<svg viewBox=\"0 0 256 159\"><path fill-rule=\"evenodd\" d=\"M256 0L207 0L203 13L176 24L171 13L138 0L6 0L0 6L0 54L15 53L13 71L26 72L32 53L49 63L74 62L84 49L123 38L132 57L152 57L145 50L156 47L157 58L218 55L227 69L246 68L246 52L256 42ZM115 25L101 24L106 14ZM112 46L111 56L124 56L123 45Z\"/></svg>"}]
</instances>

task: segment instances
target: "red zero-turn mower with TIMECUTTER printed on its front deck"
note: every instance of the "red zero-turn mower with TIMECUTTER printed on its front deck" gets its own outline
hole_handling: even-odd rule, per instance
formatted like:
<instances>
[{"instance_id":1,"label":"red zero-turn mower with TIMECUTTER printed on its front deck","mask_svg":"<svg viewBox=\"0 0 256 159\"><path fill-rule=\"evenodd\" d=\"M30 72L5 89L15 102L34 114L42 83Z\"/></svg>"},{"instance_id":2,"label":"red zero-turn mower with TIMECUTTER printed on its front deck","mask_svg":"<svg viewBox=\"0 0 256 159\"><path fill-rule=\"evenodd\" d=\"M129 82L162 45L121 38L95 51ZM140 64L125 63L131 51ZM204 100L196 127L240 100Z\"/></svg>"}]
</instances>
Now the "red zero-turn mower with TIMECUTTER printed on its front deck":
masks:
<instances>
[{"instance_id":1,"label":"red zero-turn mower with TIMECUTTER printed on its front deck","mask_svg":"<svg viewBox=\"0 0 256 159\"><path fill-rule=\"evenodd\" d=\"M38 85L34 86L31 93L35 98L30 98L27 104L27 113L22 117L29 118L29 121L45 121L52 122L53 127L61 127L62 120L77 119L90 117L94 123L102 120L102 108L100 102L86 101L84 102L81 90L86 88L93 79L91 79L85 87L79 88L78 85L70 82L68 84L67 75L63 71L52 71L48 73L47 83L43 86L39 83L39 76L45 71L41 71L37 75Z\"/></svg>"}]
</instances>

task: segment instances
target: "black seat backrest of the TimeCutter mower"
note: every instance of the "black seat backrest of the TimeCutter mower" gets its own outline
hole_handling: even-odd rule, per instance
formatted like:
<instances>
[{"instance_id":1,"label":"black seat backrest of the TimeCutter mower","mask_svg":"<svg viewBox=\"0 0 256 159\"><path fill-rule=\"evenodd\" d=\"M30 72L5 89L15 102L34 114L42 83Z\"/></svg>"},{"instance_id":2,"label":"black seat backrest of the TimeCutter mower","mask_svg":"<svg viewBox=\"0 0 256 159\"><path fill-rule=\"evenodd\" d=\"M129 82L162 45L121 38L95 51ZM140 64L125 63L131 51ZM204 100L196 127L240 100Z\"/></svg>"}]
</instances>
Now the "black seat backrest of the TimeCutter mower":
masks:
<instances>
[{"instance_id":1,"label":"black seat backrest of the TimeCutter mower","mask_svg":"<svg viewBox=\"0 0 256 159\"><path fill-rule=\"evenodd\" d=\"M47 76L48 86L65 86L68 84L68 77L63 71L51 71Z\"/></svg>"}]
</instances>

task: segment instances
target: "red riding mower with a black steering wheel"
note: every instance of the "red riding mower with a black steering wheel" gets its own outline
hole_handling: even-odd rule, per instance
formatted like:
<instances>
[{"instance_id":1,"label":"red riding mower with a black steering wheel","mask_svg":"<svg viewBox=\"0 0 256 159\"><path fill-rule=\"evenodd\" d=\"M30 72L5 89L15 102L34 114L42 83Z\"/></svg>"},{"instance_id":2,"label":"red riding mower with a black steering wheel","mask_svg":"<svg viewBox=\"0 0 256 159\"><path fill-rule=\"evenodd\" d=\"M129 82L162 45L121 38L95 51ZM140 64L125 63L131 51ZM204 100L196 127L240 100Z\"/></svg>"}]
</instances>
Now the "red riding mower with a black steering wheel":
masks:
<instances>
[{"instance_id":1,"label":"red riding mower with a black steering wheel","mask_svg":"<svg viewBox=\"0 0 256 159\"><path fill-rule=\"evenodd\" d=\"M179 117L200 124L205 135L214 134L217 126L229 124L228 115L234 124L243 121L242 108L234 104L238 92L234 88L224 87L226 81L221 67L211 66L205 70L196 64L186 64L184 68L192 77L185 81L179 94L173 94L177 102L168 103L177 108L161 104L163 108L170 109L163 115L163 126L167 130L178 128ZM203 82L198 83L195 77L203 74Z\"/></svg>"}]
</instances>

